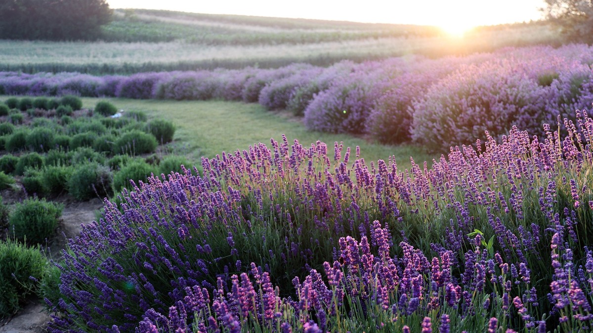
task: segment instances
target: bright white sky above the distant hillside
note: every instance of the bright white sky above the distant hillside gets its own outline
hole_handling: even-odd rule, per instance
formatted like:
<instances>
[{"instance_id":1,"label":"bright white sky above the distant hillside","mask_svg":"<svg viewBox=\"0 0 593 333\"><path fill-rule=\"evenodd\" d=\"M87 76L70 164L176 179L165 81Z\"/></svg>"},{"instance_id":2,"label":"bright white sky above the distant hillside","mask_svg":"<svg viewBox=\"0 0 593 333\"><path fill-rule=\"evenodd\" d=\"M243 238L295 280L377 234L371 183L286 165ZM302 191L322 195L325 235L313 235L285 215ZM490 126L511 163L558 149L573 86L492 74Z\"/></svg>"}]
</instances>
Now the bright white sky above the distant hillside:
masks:
<instances>
[{"instance_id":1,"label":"bright white sky above the distant hillside","mask_svg":"<svg viewBox=\"0 0 593 333\"><path fill-rule=\"evenodd\" d=\"M476 25L538 20L544 0L107 0L111 8L149 8L206 14L316 18L368 23L436 25L465 30Z\"/></svg>"}]
</instances>

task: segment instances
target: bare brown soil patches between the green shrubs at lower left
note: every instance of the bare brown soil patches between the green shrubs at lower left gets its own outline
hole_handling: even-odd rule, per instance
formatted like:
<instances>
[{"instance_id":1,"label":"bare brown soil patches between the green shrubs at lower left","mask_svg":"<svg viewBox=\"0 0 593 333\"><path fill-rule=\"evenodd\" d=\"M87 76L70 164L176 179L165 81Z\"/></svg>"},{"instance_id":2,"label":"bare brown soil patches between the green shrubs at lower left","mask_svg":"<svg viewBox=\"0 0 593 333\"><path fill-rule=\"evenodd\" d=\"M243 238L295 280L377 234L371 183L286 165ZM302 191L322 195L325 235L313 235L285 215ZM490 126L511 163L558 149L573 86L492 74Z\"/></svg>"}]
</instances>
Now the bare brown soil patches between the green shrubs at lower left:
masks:
<instances>
[{"instance_id":1,"label":"bare brown soil patches between the green shrubs at lower left","mask_svg":"<svg viewBox=\"0 0 593 333\"><path fill-rule=\"evenodd\" d=\"M18 190L5 190L0 194L5 204L17 203L24 199L24 193ZM93 198L80 202L67 195L51 198L51 200L62 203L64 209L55 236L49 239L44 247L47 248L50 259L59 260L62 249L65 249L66 239L75 238L81 231L81 225L87 225L96 220L95 212L103 207L103 201ZM0 321L0 333L46 332L45 326L50 319L49 313L44 310L43 300L31 298L12 318Z\"/></svg>"}]
</instances>

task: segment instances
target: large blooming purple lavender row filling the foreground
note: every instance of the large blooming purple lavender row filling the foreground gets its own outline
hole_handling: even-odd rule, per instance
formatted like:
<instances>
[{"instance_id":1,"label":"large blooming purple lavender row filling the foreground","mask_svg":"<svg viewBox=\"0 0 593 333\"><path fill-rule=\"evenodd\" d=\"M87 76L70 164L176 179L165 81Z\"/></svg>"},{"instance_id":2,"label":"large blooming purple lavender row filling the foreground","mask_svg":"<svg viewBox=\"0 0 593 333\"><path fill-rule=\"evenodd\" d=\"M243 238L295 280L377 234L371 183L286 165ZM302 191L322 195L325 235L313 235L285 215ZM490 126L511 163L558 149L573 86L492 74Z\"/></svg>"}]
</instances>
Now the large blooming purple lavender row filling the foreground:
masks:
<instances>
[{"instance_id":1,"label":"large blooming purple lavender row filling the foreground","mask_svg":"<svg viewBox=\"0 0 593 333\"><path fill-rule=\"evenodd\" d=\"M593 119L576 119L431 169L285 139L150 178L68 242L50 329L587 331Z\"/></svg>"}]
</instances>

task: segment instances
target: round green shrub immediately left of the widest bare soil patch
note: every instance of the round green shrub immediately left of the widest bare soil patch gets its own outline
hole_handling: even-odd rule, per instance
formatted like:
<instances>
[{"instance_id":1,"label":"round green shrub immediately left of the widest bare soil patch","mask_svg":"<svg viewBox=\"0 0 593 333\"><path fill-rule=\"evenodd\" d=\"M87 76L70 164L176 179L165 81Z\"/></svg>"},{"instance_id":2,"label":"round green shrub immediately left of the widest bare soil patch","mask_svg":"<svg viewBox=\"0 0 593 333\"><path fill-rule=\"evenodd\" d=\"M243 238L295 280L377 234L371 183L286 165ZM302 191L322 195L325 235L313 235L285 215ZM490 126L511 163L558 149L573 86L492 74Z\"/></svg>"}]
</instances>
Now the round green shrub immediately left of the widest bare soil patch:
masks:
<instances>
[{"instance_id":1,"label":"round green shrub immediately left of the widest bare soil patch","mask_svg":"<svg viewBox=\"0 0 593 333\"><path fill-rule=\"evenodd\" d=\"M9 220L14 236L27 242L41 243L58 227L63 206L45 199L28 198L17 203Z\"/></svg>"}]
</instances>

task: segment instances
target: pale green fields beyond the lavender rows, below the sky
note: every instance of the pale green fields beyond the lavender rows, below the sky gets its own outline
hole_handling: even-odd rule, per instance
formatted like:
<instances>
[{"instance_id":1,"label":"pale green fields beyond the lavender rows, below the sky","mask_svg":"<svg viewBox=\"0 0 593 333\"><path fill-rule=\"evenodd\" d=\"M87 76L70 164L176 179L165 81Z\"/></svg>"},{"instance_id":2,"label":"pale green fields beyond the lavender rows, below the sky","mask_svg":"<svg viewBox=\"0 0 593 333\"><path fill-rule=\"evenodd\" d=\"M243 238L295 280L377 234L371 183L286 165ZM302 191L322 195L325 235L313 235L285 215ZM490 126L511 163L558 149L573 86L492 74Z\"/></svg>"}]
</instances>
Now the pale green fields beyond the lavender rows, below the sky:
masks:
<instances>
[{"instance_id":1,"label":"pale green fields beyond the lavender rows, below the sky","mask_svg":"<svg viewBox=\"0 0 593 333\"><path fill-rule=\"evenodd\" d=\"M328 66L409 54L438 57L504 46L560 44L545 23L476 28L464 39L434 27L169 11L116 11L104 41L0 41L0 71L134 73ZM26 60L24 60L26 59Z\"/></svg>"}]
</instances>

